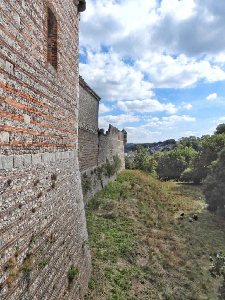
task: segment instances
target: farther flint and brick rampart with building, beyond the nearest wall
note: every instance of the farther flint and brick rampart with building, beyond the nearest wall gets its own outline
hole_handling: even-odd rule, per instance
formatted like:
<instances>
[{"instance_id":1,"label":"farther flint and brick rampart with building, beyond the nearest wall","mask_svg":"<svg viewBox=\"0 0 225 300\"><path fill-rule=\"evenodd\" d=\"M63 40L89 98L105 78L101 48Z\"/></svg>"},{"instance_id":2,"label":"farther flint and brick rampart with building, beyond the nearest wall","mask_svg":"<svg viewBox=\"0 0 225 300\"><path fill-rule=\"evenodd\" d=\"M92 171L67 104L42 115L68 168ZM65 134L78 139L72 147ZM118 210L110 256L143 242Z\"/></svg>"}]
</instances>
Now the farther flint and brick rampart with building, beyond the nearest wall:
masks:
<instances>
[{"instance_id":1,"label":"farther flint and brick rampart with building, beyond the nearest wall","mask_svg":"<svg viewBox=\"0 0 225 300\"><path fill-rule=\"evenodd\" d=\"M109 125L106 134L98 135L98 104L100 98L93 90L79 78L79 122L78 122L78 160L82 179L91 182L86 192L83 190L83 199L86 204L104 185L114 181L116 175L98 179L97 167L106 163L106 158L113 163L113 156L117 155L122 161L124 169L123 133Z\"/></svg>"}]
</instances>

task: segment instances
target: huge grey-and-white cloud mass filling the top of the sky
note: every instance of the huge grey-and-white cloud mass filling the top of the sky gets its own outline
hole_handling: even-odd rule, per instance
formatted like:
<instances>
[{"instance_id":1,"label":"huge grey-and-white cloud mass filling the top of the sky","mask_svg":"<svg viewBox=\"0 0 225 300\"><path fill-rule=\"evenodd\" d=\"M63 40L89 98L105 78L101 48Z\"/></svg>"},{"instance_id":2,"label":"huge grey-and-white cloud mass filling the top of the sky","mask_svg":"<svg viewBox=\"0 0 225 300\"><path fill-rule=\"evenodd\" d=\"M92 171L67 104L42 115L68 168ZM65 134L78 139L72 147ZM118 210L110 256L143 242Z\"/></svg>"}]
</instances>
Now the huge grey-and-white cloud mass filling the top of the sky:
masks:
<instances>
[{"instance_id":1,"label":"huge grey-and-white cloud mass filling the top of the sky","mask_svg":"<svg viewBox=\"0 0 225 300\"><path fill-rule=\"evenodd\" d=\"M136 0L89 0L81 16L80 44L95 49L113 44L116 52L135 58L153 51L216 57L225 50L224 14L220 0L143 0L138 5Z\"/></svg>"}]
</instances>

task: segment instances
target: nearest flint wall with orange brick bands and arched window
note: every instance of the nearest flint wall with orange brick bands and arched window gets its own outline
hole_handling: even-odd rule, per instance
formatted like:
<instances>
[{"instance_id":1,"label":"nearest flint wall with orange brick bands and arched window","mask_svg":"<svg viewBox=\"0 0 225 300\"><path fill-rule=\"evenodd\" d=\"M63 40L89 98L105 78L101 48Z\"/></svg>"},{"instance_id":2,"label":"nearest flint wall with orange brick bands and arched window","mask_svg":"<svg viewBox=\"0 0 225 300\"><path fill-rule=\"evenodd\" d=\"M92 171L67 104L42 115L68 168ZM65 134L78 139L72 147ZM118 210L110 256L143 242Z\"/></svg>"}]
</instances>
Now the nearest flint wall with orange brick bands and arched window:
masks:
<instances>
[{"instance_id":1,"label":"nearest flint wall with orange brick bands and arched window","mask_svg":"<svg viewBox=\"0 0 225 300\"><path fill-rule=\"evenodd\" d=\"M0 0L2 300L83 299L87 289L91 260L77 157L78 2ZM48 8L57 20L52 64ZM78 273L70 287L72 265Z\"/></svg>"}]
</instances>

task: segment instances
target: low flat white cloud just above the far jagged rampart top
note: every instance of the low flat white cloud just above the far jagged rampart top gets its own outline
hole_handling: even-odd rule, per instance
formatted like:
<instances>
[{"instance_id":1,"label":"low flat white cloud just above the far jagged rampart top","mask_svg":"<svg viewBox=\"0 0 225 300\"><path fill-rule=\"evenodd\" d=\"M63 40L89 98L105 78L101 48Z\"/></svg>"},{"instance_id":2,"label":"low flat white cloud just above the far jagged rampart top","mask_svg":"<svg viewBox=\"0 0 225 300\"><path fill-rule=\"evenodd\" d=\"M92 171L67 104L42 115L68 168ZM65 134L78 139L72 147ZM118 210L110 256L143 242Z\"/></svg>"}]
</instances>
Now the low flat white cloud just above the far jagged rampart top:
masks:
<instances>
[{"instance_id":1,"label":"low flat white cloud just above the far jagged rampart top","mask_svg":"<svg viewBox=\"0 0 225 300\"><path fill-rule=\"evenodd\" d=\"M119 116L102 116L99 117L99 128L108 128L109 124L112 124L113 126L119 127L120 125L124 123L133 123L133 122L139 122L140 117L139 116L133 116L133 115L125 115L121 114Z\"/></svg>"}]
</instances>

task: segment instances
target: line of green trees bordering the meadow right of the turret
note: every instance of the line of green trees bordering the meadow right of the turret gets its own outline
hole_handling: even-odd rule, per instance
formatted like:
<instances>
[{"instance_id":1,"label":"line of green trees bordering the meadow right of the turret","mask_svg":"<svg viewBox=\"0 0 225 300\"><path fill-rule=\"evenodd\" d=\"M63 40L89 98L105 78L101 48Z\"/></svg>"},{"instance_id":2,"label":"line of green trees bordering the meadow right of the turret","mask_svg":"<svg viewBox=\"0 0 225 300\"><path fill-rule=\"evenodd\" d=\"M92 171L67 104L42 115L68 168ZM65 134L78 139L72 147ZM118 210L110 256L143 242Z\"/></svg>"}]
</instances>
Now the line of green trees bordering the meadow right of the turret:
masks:
<instances>
[{"instance_id":1,"label":"line of green trees bordering the meadow right of the turret","mask_svg":"<svg viewBox=\"0 0 225 300\"><path fill-rule=\"evenodd\" d=\"M208 208L224 209L225 124L218 125L211 136L183 137L170 149L153 155L137 145L133 163L125 157L125 168L143 170L162 181L202 182Z\"/></svg>"}]
</instances>

